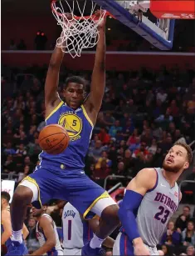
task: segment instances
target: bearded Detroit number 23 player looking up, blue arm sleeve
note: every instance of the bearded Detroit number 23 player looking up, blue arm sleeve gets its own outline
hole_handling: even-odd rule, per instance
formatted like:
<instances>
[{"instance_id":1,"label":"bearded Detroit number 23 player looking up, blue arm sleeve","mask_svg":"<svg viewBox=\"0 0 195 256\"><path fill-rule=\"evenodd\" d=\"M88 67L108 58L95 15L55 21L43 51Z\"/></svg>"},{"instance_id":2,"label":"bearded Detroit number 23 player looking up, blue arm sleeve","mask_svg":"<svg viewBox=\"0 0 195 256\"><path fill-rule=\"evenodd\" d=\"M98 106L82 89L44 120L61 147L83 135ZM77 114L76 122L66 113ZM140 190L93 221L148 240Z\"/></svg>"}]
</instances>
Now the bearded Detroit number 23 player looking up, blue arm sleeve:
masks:
<instances>
[{"instance_id":1,"label":"bearded Detroit number 23 player looking up, blue arm sleeve","mask_svg":"<svg viewBox=\"0 0 195 256\"><path fill-rule=\"evenodd\" d=\"M145 168L127 186L119 218L123 225L113 255L158 255L156 245L182 194L176 181L192 161L192 150L175 143L163 168Z\"/></svg>"}]
</instances>

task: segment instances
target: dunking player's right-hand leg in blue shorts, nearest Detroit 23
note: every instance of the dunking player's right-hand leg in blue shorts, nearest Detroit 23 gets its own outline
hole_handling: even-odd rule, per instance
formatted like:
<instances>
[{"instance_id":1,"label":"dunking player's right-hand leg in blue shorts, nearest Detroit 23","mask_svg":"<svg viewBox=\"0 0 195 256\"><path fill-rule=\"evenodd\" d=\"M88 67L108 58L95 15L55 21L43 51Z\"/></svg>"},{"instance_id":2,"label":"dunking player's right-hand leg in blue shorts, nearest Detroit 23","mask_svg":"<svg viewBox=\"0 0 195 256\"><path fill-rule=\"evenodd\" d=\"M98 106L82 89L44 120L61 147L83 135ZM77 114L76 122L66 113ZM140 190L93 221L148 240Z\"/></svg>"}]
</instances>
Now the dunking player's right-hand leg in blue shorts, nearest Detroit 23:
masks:
<instances>
[{"instance_id":1,"label":"dunking player's right-hand leg in blue shorts, nearest Detroit 23","mask_svg":"<svg viewBox=\"0 0 195 256\"><path fill-rule=\"evenodd\" d=\"M84 218L91 218L95 214L100 216L99 228L95 237L90 241L90 248L94 251L86 252L89 255L97 255L101 243L119 225L117 214L119 207L105 189L94 183L85 174L68 173L63 184L64 189L61 195L64 194L66 198L61 199L69 201L83 214Z\"/></svg>"}]
</instances>

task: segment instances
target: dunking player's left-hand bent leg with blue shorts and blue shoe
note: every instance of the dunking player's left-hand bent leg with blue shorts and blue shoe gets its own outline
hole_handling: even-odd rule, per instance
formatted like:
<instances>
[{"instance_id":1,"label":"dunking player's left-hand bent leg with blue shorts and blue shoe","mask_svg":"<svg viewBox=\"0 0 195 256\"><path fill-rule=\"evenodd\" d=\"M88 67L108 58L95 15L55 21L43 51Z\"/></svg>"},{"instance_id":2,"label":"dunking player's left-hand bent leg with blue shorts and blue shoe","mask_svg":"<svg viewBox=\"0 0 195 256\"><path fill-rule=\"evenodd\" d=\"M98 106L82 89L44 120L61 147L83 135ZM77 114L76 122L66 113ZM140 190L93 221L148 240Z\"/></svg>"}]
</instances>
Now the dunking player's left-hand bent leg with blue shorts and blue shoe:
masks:
<instances>
[{"instance_id":1,"label":"dunking player's left-hand bent leg with blue shorts and blue shoe","mask_svg":"<svg viewBox=\"0 0 195 256\"><path fill-rule=\"evenodd\" d=\"M11 204L12 246L8 248L7 256L27 254L27 248L22 243L22 225L27 214L27 205L33 203L38 208L52 197L58 186L56 177L51 176L51 173L46 173L46 169L40 168L18 185Z\"/></svg>"}]
</instances>

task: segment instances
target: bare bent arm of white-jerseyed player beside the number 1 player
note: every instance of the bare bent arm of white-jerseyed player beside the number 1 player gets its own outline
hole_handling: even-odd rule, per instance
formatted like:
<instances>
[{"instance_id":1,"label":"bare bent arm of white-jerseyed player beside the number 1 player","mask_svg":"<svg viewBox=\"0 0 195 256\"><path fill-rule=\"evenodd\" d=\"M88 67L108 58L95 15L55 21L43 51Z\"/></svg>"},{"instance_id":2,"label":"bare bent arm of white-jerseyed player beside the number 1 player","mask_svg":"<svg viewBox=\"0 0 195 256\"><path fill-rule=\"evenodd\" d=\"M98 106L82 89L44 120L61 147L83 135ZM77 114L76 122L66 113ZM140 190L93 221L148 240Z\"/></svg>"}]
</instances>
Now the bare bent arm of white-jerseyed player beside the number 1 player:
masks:
<instances>
[{"instance_id":1,"label":"bare bent arm of white-jerseyed player beside the number 1 player","mask_svg":"<svg viewBox=\"0 0 195 256\"><path fill-rule=\"evenodd\" d=\"M49 252L51 248L56 245L56 236L51 218L42 216L39 222L39 227L43 230L46 237L46 243L44 243L41 248L38 248L37 251L31 255L43 255L44 253Z\"/></svg>"}]
</instances>

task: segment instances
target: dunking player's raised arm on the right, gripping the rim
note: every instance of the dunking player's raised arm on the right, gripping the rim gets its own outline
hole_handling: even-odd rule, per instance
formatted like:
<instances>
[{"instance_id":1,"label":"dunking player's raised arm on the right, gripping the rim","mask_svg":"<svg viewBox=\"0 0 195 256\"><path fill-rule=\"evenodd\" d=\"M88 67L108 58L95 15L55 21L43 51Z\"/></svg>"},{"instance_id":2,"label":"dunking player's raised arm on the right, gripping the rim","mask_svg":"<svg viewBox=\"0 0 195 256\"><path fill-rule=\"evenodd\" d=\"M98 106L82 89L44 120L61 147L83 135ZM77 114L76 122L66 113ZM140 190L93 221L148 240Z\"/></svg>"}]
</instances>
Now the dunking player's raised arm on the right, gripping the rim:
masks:
<instances>
[{"instance_id":1,"label":"dunking player's raised arm on the right, gripping the rim","mask_svg":"<svg viewBox=\"0 0 195 256\"><path fill-rule=\"evenodd\" d=\"M95 64L91 78L90 95L84 106L91 121L96 122L105 93L105 18L98 28L100 39L95 53Z\"/></svg>"}]
</instances>

